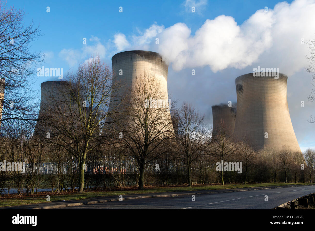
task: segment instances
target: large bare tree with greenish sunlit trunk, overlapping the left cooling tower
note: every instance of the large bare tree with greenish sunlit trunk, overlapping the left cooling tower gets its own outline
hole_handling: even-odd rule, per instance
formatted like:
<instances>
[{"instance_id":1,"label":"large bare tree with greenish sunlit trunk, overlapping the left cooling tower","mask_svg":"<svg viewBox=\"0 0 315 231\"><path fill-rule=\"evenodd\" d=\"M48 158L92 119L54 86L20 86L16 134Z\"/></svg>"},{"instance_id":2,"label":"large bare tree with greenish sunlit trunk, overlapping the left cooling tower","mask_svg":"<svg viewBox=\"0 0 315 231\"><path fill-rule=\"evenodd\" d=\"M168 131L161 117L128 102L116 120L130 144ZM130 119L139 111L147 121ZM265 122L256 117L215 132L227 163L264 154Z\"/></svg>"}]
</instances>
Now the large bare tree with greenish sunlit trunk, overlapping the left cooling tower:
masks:
<instances>
[{"instance_id":1,"label":"large bare tree with greenish sunlit trunk, overlapping the left cooling tower","mask_svg":"<svg viewBox=\"0 0 315 231\"><path fill-rule=\"evenodd\" d=\"M79 191L84 190L86 156L106 143L107 133L102 129L110 123L113 111L108 110L111 101L112 72L99 56L80 64L75 74L69 73L66 82L56 84L47 92L46 112L38 128L42 139L61 146L77 158L79 166ZM48 130L45 130L48 129ZM46 136L47 132L49 137Z\"/></svg>"}]
</instances>

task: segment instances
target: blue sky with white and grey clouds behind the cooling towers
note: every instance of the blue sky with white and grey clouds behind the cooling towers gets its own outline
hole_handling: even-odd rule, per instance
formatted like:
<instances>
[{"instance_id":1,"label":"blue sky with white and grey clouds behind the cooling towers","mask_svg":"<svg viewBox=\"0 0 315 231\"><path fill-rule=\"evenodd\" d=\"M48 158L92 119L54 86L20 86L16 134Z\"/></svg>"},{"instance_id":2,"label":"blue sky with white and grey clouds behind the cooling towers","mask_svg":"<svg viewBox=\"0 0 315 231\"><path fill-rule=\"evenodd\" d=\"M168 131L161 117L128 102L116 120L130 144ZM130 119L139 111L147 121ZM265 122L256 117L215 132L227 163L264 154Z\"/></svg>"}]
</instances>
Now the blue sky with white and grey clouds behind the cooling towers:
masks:
<instances>
[{"instance_id":1,"label":"blue sky with white and grey clouds behind the cooling towers","mask_svg":"<svg viewBox=\"0 0 315 231\"><path fill-rule=\"evenodd\" d=\"M45 67L63 68L64 73L75 70L93 53L111 65L111 57L120 51L159 52L169 62L171 96L179 104L191 102L205 113L209 124L212 105L236 101L236 77L259 65L279 67L288 75L289 111L301 149L315 147L315 124L307 122L315 115L315 102L307 101L312 77L305 71L308 50L301 43L315 36L315 24L308 23L315 21L314 0L15 0L7 5L24 8L25 21L40 26L44 35L32 44L32 50L45 53ZM196 76L192 77L192 69ZM40 83L51 77L37 78L34 89L40 92Z\"/></svg>"}]
</instances>

